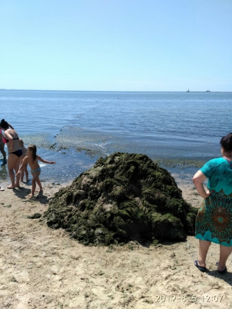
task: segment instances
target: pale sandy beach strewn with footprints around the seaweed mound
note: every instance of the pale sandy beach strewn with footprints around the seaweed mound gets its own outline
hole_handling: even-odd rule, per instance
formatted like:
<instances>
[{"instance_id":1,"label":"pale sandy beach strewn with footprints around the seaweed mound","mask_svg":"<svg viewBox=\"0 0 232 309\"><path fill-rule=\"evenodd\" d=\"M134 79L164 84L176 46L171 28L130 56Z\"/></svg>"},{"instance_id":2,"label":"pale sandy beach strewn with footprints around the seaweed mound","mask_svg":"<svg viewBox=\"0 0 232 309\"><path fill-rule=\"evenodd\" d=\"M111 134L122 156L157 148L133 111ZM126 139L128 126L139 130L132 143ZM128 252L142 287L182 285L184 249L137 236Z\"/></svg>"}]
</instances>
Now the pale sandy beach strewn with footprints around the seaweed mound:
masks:
<instances>
[{"instance_id":1,"label":"pale sandy beach strewn with footprints around the seaweed mound","mask_svg":"<svg viewBox=\"0 0 232 309\"><path fill-rule=\"evenodd\" d=\"M31 185L0 192L1 309L32 308L231 308L232 265L218 274L219 248L212 244L207 273L194 267L198 241L156 247L84 247L41 219L61 185L43 183L44 193L28 199ZM193 185L180 183L183 198L199 206Z\"/></svg>"}]
</instances>

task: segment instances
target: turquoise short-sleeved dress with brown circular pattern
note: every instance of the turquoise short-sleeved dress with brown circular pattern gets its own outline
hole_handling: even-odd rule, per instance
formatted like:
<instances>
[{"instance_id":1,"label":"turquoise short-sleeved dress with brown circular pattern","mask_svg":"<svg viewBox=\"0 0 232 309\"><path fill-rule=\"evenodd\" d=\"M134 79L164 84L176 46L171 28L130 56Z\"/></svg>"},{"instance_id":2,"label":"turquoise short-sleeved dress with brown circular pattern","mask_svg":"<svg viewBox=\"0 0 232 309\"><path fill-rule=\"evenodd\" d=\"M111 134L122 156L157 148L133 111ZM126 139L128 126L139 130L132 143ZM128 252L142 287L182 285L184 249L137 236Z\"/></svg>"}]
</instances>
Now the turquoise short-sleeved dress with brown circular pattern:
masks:
<instances>
[{"instance_id":1,"label":"turquoise short-sleeved dress with brown circular pattern","mask_svg":"<svg viewBox=\"0 0 232 309\"><path fill-rule=\"evenodd\" d=\"M200 170L208 178L208 190L213 190L213 193L199 208L196 238L231 247L232 164L224 158L217 158L208 161Z\"/></svg>"}]
</instances>

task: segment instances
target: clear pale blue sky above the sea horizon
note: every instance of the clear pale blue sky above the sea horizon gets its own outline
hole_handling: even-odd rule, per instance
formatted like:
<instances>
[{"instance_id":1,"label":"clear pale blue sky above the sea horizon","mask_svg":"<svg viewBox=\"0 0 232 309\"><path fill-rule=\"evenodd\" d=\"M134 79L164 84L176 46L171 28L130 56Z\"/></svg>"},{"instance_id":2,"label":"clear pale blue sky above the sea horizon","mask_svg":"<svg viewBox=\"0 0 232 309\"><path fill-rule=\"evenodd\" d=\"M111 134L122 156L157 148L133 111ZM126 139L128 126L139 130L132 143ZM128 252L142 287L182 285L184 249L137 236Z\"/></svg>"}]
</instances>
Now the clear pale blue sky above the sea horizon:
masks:
<instances>
[{"instance_id":1,"label":"clear pale blue sky above the sea horizon","mask_svg":"<svg viewBox=\"0 0 232 309\"><path fill-rule=\"evenodd\" d=\"M232 0L0 0L0 88L232 91Z\"/></svg>"}]
</instances>

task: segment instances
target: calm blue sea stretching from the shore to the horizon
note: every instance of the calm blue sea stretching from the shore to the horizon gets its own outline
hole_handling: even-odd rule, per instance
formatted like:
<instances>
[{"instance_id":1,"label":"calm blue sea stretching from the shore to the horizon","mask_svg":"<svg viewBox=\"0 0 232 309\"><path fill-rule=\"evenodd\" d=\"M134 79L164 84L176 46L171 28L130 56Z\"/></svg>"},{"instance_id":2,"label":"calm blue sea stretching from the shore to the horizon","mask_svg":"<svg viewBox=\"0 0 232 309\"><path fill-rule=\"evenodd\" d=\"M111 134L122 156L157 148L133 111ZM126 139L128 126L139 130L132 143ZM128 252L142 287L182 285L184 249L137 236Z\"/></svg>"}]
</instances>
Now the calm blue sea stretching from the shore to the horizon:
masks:
<instances>
[{"instance_id":1,"label":"calm blue sea stretching from the shore to the horizon","mask_svg":"<svg viewBox=\"0 0 232 309\"><path fill-rule=\"evenodd\" d=\"M232 132L232 92L0 90L1 119L41 163L40 179L70 183L111 153L142 153L185 181L221 156ZM0 153L0 183L9 181Z\"/></svg>"}]
</instances>

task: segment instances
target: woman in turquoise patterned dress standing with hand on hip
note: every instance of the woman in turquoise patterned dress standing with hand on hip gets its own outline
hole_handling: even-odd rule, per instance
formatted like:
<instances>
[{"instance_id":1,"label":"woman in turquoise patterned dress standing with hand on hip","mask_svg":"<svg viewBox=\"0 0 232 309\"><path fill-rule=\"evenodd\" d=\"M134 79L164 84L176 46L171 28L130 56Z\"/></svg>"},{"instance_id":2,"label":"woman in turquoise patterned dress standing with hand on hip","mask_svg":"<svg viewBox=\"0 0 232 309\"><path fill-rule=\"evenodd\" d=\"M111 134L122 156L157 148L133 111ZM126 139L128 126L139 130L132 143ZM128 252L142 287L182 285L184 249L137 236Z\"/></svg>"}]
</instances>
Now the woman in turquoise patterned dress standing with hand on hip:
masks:
<instances>
[{"instance_id":1,"label":"woman in turquoise patterned dress standing with hand on hip","mask_svg":"<svg viewBox=\"0 0 232 309\"><path fill-rule=\"evenodd\" d=\"M194 265L206 272L206 256L211 242L219 244L219 274L226 272L226 260L232 251L232 133L220 140L222 158L206 162L194 175L194 185L204 198L196 219L199 257ZM203 182L208 178L207 187Z\"/></svg>"}]
</instances>

